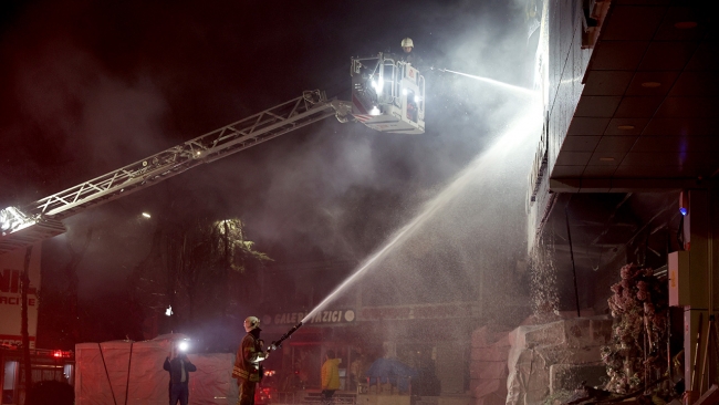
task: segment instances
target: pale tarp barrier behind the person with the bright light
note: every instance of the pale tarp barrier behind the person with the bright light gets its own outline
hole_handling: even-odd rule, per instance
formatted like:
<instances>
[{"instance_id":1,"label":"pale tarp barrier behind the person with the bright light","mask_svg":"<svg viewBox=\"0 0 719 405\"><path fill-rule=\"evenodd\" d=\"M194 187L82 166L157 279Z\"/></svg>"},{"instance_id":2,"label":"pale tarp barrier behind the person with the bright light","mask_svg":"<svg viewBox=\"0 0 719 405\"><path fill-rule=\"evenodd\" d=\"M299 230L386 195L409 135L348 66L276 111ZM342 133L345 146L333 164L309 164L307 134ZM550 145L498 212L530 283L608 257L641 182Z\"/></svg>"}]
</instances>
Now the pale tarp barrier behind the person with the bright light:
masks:
<instances>
[{"instance_id":1,"label":"pale tarp barrier behind the person with the bright light","mask_svg":"<svg viewBox=\"0 0 719 405\"><path fill-rule=\"evenodd\" d=\"M75 345L75 404L166 404L169 373L163 370L163 364L174 339L159 336L144 342ZM190 373L191 404L237 403L237 383L231 377L235 354L189 354L188 357L197 366Z\"/></svg>"}]
</instances>

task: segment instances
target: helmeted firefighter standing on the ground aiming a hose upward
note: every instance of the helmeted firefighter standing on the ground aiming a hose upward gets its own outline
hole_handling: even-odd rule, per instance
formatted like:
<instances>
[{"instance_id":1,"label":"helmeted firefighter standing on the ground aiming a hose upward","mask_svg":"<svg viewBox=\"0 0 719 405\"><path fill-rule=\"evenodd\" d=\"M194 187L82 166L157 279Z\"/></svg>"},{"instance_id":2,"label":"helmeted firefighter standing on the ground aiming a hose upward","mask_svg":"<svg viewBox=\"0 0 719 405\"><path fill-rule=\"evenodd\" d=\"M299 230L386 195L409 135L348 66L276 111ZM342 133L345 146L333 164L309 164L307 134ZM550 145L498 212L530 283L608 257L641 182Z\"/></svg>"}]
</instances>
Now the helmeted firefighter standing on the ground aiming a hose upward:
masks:
<instances>
[{"instance_id":1,"label":"helmeted firefighter standing on the ground aiming a hose upward","mask_svg":"<svg viewBox=\"0 0 719 405\"><path fill-rule=\"evenodd\" d=\"M240 395L238 405L254 405L254 388L257 383L262 378L260 362L270 356L269 352L262 352L260 341L260 319L248 316L244 320L244 331L247 334L240 343L235 356L235 367L232 377L237 378Z\"/></svg>"}]
</instances>

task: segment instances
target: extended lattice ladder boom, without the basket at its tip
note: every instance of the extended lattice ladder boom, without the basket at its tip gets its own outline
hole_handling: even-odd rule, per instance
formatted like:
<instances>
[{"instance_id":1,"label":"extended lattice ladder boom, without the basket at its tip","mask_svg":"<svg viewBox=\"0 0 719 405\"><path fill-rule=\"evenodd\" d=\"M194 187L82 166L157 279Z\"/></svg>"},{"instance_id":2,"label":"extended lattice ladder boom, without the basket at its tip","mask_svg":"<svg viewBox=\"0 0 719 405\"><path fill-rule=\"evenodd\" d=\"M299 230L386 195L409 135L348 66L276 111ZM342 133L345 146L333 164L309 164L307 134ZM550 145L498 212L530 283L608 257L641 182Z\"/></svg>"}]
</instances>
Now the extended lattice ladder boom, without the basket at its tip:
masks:
<instances>
[{"instance_id":1,"label":"extended lattice ladder boom, without the basket at its tip","mask_svg":"<svg viewBox=\"0 0 719 405\"><path fill-rule=\"evenodd\" d=\"M22 208L0 211L0 255L63 233L63 218L153 186L173 176L259 145L280 135L336 116L341 122L352 107L327 101L324 92L268 108L119 169L44 197Z\"/></svg>"}]
</instances>

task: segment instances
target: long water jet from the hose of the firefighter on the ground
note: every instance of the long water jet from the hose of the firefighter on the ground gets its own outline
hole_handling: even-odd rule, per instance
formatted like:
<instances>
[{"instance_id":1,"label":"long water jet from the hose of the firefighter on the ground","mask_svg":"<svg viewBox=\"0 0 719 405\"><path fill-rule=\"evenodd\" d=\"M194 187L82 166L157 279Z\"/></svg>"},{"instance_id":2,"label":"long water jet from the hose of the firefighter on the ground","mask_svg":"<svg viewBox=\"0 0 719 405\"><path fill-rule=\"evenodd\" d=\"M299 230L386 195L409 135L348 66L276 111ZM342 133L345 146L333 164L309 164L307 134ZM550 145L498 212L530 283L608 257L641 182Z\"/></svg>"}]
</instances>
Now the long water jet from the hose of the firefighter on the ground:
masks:
<instances>
[{"instance_id":1,"label":"long water jet from the hose of the firefighter on the ground","mask_svg":"<svg viewBox=\"0 0 719 405\"><path fill-rule=\"evenodd\" d=\"M362 262L357 270L355 270L355 272L350 276L350 278L342 282L330 295L327 295L327 298L325 298L322 302L320 302L317 307L308 313L302 322L304 323L308 320L314 318L319 311L325 308L335 298L340 297L340 294L342 294L345 289L358 281L363 276L367 273L368 270L373 269L374 264L377 264L392 251L400 247L429 219L431 219L437 212L447 207L449 202L455 199L455 197L457 197L471 181L477 178L477 176L481 176L481 173L486 172L488 165L494 162L489 157L508 155L518 145L529 142L529 139L534 136L541 128L541 114L536 113L538 111L541 111L541 108L536 106L536 103L533 103L525 111L529 111L530 113L525 113L524 115L519 116L512 123L512 125L510 125L509 128L498 138L494 145L492 145L486 153L475 158L475 160L472 160L469 166L462 169L445 189L442 189L434 199L425 205L423 210L415 218L413 218L403 228L397 230L382 248L379 248L364 262Z\"/></svg>"}]
</instances>

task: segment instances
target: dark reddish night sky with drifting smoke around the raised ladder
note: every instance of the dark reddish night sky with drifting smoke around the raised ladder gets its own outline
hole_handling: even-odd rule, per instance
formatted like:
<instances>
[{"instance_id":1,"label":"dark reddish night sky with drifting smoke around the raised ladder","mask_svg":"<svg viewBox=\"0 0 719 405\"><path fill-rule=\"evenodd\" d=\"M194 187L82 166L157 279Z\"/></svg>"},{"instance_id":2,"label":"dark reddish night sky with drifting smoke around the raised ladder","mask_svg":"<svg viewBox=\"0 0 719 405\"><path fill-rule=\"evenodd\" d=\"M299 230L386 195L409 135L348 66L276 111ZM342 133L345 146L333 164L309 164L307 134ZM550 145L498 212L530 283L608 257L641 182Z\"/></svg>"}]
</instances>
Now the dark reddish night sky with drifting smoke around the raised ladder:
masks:
<instances>
[{"instance_id":1,"label":"dark reddish night sky with drifting smoke around the raised ladder","mask_svg":"<svg viewBox=\"0 0 719 405\"><path fill-rule=\"evenodd\" d=\"M4 1L0 205L23 205L321 89L347 98L351 55L399 51L531 87L522 1ZM427 74L427 133L333 118L66 220L93 241L81 291L122 284L147 253L143 210L238 216L279 263L361 260L480 153L517 104ZM524 177L517 179L523 186ZM520 202L521 205L521 202Z\"/></svg>"}]
</instances>

